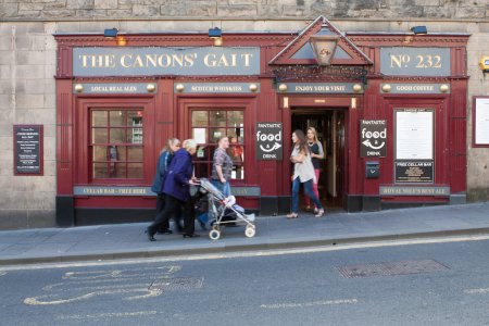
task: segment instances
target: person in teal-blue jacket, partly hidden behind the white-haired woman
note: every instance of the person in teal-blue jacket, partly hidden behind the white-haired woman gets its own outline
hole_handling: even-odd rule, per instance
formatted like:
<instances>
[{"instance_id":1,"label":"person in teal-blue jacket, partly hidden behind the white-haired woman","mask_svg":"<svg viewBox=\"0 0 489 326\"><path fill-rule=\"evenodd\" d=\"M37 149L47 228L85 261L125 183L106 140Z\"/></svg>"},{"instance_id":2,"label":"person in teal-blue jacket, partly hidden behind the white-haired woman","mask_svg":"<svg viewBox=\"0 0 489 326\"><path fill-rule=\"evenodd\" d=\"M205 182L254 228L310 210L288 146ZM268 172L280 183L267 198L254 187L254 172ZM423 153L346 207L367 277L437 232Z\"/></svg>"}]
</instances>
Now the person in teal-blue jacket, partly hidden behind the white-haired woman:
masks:
<instances>
[{"instance_id":1,"label":"person in teal-blue jacket, partly hidden behind the white-haired woman","mask_svg":"<svg viewBox=\"0 0 489 326\"><path fill-rule=\"evenodd\" d=\"M165 206L165 193L163 192L163 181L168 170L172 159L177 150L180 149L180 140L177 138L168 138L166 140L166 146L160 152L160 156L156 162L156 173L153 178L153 185L151 191L156 193L156 216L155 220L163 213ZM175 225L178 230L181 231L180 216L179 212L174 216ZM162 225L158 230L159 234L171 235L173 231L170 229L170 225Z\"/></svg>"}]
</instances>

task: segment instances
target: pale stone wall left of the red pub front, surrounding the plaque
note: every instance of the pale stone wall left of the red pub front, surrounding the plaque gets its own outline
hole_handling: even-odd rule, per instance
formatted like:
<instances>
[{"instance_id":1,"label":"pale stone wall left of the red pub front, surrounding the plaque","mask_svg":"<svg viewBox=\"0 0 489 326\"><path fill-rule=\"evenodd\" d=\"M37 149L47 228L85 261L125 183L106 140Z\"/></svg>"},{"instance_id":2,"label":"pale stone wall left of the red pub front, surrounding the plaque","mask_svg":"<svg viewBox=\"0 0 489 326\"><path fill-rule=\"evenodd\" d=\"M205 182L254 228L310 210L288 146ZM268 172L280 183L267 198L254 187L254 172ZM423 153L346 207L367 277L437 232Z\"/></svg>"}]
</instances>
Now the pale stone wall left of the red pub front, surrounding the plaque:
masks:
<instances>
[{"instance_id":1,"label":"pale stone wall left of the red pub front, surrounding the plaque","mask_svg":"<svg viewBox=\"0 0 489 326\"><path fill-rule=\"evenodd\" d=\"M52 23L0 23L0 228L54 225ZM13 125L43 125L43 176L13 176Z\"/></svg>"}]
</instances>

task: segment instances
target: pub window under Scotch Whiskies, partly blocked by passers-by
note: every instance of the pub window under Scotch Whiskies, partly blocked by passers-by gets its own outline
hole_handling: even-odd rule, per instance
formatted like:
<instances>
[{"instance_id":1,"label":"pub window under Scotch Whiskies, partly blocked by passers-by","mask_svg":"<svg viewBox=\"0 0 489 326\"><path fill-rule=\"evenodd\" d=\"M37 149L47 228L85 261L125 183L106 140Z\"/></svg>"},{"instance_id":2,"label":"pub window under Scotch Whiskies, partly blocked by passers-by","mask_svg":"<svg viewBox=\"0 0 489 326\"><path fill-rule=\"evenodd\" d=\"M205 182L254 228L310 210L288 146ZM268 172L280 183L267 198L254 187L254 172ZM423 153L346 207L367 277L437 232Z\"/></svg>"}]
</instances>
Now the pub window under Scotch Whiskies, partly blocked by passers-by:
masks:
<instances>
[{"instance_id":1,"label":"pub window under Scotch Whiskies, partly blocked by passers-by","mask_svg":"<svg viewBox=\"0 0 489 326\"><path fill-rule=\"evenodd\" d=\"M199 110L191 112L192 138L197 140L196 176L211 177L212 159L221 137L229 138L231 178L244 178L244 117L242 110Z\"/></svg>"}]
</instances>

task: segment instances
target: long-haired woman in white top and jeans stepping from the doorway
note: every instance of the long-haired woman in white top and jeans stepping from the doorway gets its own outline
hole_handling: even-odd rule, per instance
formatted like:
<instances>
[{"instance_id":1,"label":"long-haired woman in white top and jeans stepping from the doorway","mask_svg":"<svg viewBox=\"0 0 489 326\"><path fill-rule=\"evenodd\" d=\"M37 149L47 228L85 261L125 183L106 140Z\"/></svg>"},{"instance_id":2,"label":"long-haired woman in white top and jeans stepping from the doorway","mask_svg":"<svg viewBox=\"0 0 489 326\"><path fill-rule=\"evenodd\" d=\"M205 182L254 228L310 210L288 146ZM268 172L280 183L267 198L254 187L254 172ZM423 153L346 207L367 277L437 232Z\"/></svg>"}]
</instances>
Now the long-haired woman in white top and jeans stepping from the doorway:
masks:
<instances>
[{"instance_id":1,"label":"long-haired woman in white top and jeans stepping from the doorway","mask_svg":"<svg viewBox=\"0 0 489 326\"><path fill-rule=\"evenodd\" d=\"M292 133L293 149L290 155L290 162L293 163L292 175L292 212L287 214L287 218L297 218L299 211L299 188L304 184L305 195L311 198L317 208L317 214L314 216L321 217L324 215L324 209L321 201L314 195L312 185L315 183L314 166L311 161L311 152L309 150L308 141L305 140L302 130L294 130Z\"/></svg>"}]
</instances>

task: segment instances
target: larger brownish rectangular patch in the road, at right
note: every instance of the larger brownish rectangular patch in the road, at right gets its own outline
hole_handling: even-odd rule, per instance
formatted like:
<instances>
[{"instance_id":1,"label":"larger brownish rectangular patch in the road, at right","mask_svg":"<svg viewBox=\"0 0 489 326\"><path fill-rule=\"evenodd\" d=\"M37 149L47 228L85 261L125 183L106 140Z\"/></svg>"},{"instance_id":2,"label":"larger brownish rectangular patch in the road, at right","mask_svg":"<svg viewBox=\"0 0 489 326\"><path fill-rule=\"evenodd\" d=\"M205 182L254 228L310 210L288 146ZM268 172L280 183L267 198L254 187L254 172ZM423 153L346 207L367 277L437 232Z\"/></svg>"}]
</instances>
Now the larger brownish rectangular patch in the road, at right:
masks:
<instances>
[{"instance_id":1,"label":"larger brownish rectangular patch in the road, at right","mask_svg":"<svg viewBox=\"0 0 489 326\"><path fill-rule=\"evenodd\" d=\"M449 269L434 260L402 261L336 268L346 278L408 275Z\"/></svg>"}]
</instances>

